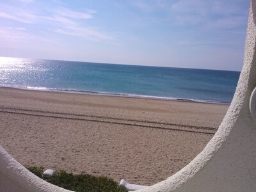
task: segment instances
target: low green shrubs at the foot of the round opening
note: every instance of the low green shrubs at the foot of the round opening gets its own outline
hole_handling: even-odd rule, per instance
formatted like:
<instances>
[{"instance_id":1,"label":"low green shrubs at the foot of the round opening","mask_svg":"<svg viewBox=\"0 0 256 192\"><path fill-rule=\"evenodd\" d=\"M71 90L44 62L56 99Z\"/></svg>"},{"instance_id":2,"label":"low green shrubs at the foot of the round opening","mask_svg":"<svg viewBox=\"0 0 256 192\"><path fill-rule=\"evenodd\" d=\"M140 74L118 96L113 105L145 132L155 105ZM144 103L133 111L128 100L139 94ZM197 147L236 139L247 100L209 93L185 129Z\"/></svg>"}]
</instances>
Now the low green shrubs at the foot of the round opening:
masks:
<instances>
[{"instance_id":1,"label":"low green shrubs at the foot of the round opening","mask_svg":"<svg viewBox=\"0 0 256 192\"><path fill-rule=\"evenodd\" d=\"M113 179L104 176L95 177L89 174L73 175L72 173L58 170L56 171L56 175L48 177L47 175L43 175L44 168L42 166L31 166L28 168L28 170L34 173L36 176L40 177L41 179L50 182L51 184L72 191L127 192L127 189L124 186L118 186L118 183L115 182Z\"/></svg>"}]
</instances>

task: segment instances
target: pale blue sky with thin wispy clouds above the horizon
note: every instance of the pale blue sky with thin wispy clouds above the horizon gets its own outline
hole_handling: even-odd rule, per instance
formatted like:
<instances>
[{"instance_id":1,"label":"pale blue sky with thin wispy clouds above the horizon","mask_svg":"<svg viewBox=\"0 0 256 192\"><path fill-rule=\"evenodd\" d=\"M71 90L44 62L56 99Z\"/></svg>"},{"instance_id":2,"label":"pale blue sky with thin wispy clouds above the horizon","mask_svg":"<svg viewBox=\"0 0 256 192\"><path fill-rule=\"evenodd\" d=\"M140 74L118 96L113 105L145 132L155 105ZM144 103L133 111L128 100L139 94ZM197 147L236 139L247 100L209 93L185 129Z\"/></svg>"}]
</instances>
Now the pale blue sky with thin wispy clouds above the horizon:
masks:
<instances>
[{"instance_id":1,"label":"pale blue sky with thin wispy clouds above the horizon","mask_svg":"<svg viewBox=\"0 0 256 192\"><path fill-rule=\"evenodd\" d=\"M240 71L250 0L0 1L0 56Z\"/></svg>"}]
</instances>

